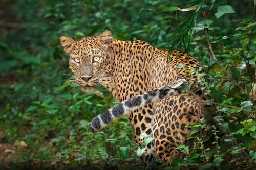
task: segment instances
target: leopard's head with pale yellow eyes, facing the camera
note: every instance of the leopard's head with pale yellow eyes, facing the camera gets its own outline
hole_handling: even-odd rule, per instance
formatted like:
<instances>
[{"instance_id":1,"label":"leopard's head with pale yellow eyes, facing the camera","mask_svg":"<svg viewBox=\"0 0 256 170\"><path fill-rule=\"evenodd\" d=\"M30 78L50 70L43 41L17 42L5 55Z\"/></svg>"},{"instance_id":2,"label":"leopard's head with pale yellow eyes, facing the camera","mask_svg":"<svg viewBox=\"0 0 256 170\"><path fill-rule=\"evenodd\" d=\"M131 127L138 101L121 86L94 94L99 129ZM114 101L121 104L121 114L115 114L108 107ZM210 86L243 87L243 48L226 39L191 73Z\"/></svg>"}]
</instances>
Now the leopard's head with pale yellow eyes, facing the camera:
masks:
<instances>
[{"instance_id":1,"label":"leopard's head with pale yellow eyes, facing the camera","mask_svg":"<svg viewBox=\"0 0 256 170\"><path fill-rule=\"evenodd\" d=\"M83 91L91 91L98 83L111 81L112 34L110 31L77 41L62 36L60 43L64 51L70 55L69 67Z\"/></svg>"}]
</instances>

